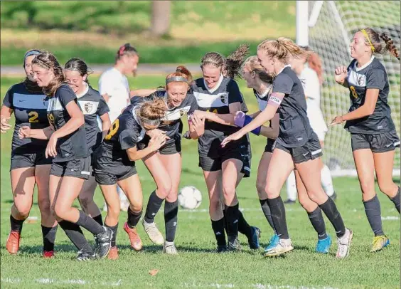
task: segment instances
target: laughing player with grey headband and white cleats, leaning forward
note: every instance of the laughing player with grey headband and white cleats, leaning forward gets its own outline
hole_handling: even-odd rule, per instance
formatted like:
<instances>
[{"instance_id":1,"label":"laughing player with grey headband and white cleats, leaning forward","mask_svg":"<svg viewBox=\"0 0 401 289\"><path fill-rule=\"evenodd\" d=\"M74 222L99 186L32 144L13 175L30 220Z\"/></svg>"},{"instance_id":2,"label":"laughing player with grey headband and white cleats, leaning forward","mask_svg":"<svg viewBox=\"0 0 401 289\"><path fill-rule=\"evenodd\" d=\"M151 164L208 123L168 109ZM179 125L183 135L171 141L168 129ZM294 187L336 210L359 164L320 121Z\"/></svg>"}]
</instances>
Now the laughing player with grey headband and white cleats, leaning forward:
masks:
<instances>
[{"instance_id":1,"label":"laughing player with grey headband and white cleats, leaning forward","mask_svg":"<svg viewBox=\"0 0 401 289\"><path fill-rule=\"evenodd\" d=\"M163 133L168 137L166 144L157 152L148 154L142 160L149 169L157 188L149 196L146 213L142 224L153 243L164 244L163 252L177 254L174 238L176 236L178 216L178 186L181 178L181 134L183 122L181 117L193 114L197 108L193 94L188 93L193 78L191 73L183 66L178 66L175 73L166 76L166 90L158 90L149 97L134 97L133 104L148 100L164 100L168 105L166 114L161 119L158 130L153 133ZM190 117L189 133L191 138L197 140L203 135L204 125L196 115ZM149 135L145 135L137 147L144 149L149 146ZM141 151L139 151L141 152ZM164 203L164 223L166 226L166 241L164 241L154 218ZM129 228L124 229L128 232Z\"/></svg>"}]
</instances>

